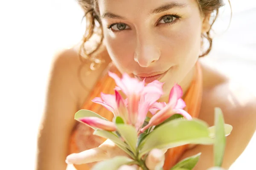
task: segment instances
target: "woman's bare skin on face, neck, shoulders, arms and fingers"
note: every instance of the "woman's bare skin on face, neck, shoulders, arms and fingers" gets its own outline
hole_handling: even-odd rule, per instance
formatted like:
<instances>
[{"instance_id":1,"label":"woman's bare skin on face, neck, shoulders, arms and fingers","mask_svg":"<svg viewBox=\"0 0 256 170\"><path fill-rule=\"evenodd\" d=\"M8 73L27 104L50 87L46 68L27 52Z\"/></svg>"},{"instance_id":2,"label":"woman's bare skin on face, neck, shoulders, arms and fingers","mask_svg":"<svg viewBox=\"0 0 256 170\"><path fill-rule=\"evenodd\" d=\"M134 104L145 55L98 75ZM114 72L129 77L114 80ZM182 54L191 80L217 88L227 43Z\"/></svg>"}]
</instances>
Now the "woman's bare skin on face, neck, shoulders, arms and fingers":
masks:
<instances>
[{"instance_id":1,"label":"woman's bare skin on face, neck, shoulders, arms and fingers","mask_svg":"<svg viewBox=\"0 0 256 170\"><path fill-rule=\"evenodd\" d=\"M98 2L101 16L111 11L126 19L102 17L105 48L97 55L106 62L98 70L82 78L86 88L79 82L77 74L81 64L77 48L63 51L56 56L49 80L44 118L38 133L37 170L64 170L67 167L65 159L69 138L76 123L73 119L74 113L81 108L109 62L113 61L119 71L126 72L130 76L138 74L145 76L170 69L160 80L166 82L164 85L166 95L160 101L167 101L167 95L175 82L179 83L185 92L189 88L195 62L198 61L200 54L201 33L210 28L209 17L200 14L195 0L179 0L178 3L187 4L186 7L172 8L157 14L149 13L152 9L172 3L174 0L98 0ZM160 20L166 14L177 14L181 17L174 19L174 24L168 25ZM107 28L108 25L116 22L127 24L128 29L114 32L115 26L112 30ZM227 137L223 162L223 167L228 168L243 152L255 132L256 105L253 101L256 98L243 86L234 85L233 80L224 72L218 73L212 69L213 65L200 62L204 87L199 119L213 125L214 107L220 107L225 122L233 126L232 134ZM66 161L81 164L105 159L106 153L108 157L124 154L120 150L114 151L113 147L116 148L107 140L98 148L68 156ZM97 154L93 155L92 151L95 150ZM155 156L149 156L148 162L154 162L153 165L147 164L152 167L150 169L154 169L156 164L163 161L164 152L152 150L151 155ZM211 167L212 146L198 145L186 151L181 159L198 152L202 152L202 156L195 170Z\"/></svg>"}]
</instances>

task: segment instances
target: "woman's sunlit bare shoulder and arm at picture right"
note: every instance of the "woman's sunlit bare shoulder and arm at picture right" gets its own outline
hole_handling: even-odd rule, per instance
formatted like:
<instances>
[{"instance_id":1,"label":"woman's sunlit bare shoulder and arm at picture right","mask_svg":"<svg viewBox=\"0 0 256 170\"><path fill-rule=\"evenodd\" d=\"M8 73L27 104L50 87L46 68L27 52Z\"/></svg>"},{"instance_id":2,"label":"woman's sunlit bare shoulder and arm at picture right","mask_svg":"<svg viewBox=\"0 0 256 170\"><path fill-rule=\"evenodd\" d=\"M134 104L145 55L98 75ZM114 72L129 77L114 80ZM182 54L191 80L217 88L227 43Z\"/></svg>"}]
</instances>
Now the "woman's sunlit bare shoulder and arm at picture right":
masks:
<instances>
[{"instance_id":1,"label":"woman's sunlit bare shoulder and arm at picture right","mask_svg":"<svg viewBox=\"0 0 256 170\"><path fill-rule=\"evenodd\" d=\"M247 86L247 82L229 77L225 71L217 71L202 65L204 92L199 119L210 126L214 124L214 108L223 111L225 123L233 126L227 137L224 161L222 166L229 168L244 152L256 130L256 95L255 89ZM195 170L213 166L212 146L198 145L188 150L183 158L202 152Z\"/></svg>"}]
</instances>

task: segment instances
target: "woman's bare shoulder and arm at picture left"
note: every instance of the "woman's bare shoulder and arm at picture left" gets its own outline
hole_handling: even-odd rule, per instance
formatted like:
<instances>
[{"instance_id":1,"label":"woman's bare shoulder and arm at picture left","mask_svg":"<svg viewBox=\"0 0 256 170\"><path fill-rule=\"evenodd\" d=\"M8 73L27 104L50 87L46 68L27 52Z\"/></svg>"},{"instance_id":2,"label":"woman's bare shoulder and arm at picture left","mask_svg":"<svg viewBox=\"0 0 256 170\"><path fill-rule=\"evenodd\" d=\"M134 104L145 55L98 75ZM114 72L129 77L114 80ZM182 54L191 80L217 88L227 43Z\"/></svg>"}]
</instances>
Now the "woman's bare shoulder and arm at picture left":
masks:
<instances>
[{"instance_id":1,"label":"woman's bare shoulder and arm at picture left","mask_svg":"<svg viewBox=\"0 0 256 170\"><path fill-rule=\"evenodd\" d=\"M59 52L53 59L44 114L38 132L38 170L66 169L67 146L76 123L74 114L80 109L106 65L84 75L84 70L79 68L86 66L82 65L74 48Z\"/></svg>"}]
</instances>

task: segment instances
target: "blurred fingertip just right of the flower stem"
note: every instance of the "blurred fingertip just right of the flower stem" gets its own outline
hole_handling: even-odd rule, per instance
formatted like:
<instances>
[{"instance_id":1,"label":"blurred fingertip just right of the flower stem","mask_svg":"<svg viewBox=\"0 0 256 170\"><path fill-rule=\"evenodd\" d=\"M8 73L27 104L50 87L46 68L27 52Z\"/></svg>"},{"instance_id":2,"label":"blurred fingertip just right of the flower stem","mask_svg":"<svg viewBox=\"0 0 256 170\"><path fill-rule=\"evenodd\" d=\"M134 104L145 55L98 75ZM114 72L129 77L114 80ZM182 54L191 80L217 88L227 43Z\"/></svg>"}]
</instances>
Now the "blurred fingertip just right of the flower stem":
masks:
<instances>
[{"instance_id":1,"label":"blurred fingertip just right of the flower stem","mask_svg":"<svg viewBox=\"0 0 256 170\"><path fill-rule=\"evenodd\" d=\"M164 153L166 153L167 149L153 149L149 152L145 164L149 170L159 170L163 167L164 164Z\"/></svg>"}]
</instances>

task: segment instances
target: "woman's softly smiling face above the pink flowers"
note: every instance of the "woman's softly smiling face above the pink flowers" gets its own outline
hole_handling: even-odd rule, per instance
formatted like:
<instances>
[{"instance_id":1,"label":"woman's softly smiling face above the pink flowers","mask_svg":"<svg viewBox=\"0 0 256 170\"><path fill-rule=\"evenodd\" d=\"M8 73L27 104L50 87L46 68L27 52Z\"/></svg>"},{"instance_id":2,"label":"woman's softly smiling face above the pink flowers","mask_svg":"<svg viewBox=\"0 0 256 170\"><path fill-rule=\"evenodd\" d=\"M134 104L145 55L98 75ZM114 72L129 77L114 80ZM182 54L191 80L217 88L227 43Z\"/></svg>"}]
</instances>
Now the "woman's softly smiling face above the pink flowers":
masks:
<instances>
[{"instance_id":1,"label":"woman's softly smiling face above the pink flowers","mask_svg":"<svg viewBox=\"0 0 256 170\"><path fill-rule=\"evenodd\" d=\"M195 65L202 22L196 0L98 0L105 45L122 73L169 91Z\"/></svg>"}]
</instances>

